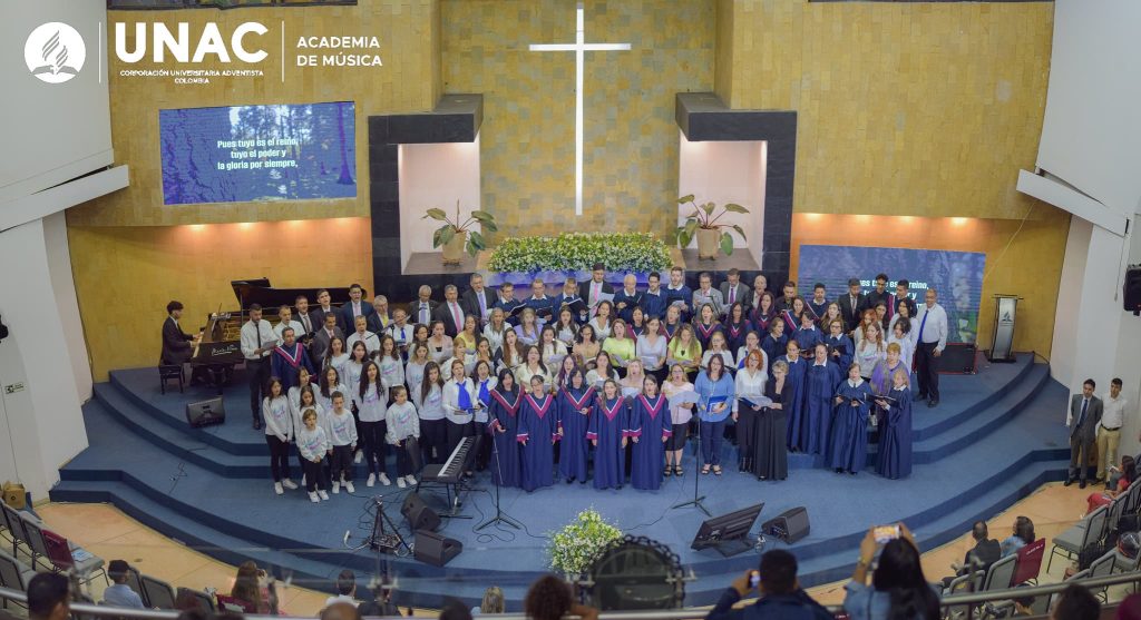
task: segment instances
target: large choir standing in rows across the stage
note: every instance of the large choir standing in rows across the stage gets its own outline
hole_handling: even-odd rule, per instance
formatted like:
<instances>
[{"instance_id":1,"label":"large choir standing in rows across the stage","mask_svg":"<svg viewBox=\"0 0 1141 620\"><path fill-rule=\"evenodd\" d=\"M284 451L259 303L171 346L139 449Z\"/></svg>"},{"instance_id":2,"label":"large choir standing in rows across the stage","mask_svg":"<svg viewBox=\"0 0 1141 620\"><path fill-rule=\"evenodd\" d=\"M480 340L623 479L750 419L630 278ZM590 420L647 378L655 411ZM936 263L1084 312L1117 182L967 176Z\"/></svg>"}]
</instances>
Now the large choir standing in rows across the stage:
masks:
<instances>
[{"instance_id":1,"label":"large choir standing in rows across the stage","mask_svg":"<svg viewBox=\"0 0 1141 620\"><path fill-rule=\"evenodd\" d=\"M462 297L448 285L436 302L422 286L391 309L353 285L340 308L324 291L314 309L299 297L276 326L250 308L242 350L275 491L297 488L291 443L319 501L354 490L355 464L367 486L390 484L389 450L396 483L414 484L420 464L444 462L464 437L475 470L527 491L556 476L657 489L685 474L693 434L702 474L722 474L728 437L739 471L784 480L788 451L856 474L876 426L876 472L909 474L917 315L906 282L892 295L881 275L857 295L853 280L828 302L820 284L804 299L790 282L775 297L764 276L750 288L736 270L720 288L702 274L697 289L680 268L664 287L650 274L647 289L626 276L615 291L605 275L596 266L581 294L568 278L557 296L535 280L517 299L477 274Z\"/></svg>"}]
</instances>

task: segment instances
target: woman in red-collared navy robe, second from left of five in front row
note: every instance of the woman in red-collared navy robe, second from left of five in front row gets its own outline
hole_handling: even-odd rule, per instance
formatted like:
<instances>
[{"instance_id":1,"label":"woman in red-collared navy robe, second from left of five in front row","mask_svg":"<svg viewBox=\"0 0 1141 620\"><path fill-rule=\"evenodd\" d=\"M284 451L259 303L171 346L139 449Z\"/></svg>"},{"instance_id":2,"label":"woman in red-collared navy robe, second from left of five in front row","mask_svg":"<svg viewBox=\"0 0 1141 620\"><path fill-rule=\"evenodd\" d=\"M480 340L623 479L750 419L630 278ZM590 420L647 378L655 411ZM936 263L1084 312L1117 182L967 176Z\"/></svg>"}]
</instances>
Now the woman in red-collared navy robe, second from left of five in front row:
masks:
<instances>
[{"instance_id":1,"label":"woman in red-collared navy robe, second from left of five in front row","mask_svg":"<svg viewBox=\"0 0 1141 620\"><path fill-rule=\"evenodd\" d=\"M555 442L559 439L555 397L547 393L542 375L531 377L531 393L519 405L519 431L523 443L523 490L531 492L555 484Z\"/></svg>"}]
</instances>

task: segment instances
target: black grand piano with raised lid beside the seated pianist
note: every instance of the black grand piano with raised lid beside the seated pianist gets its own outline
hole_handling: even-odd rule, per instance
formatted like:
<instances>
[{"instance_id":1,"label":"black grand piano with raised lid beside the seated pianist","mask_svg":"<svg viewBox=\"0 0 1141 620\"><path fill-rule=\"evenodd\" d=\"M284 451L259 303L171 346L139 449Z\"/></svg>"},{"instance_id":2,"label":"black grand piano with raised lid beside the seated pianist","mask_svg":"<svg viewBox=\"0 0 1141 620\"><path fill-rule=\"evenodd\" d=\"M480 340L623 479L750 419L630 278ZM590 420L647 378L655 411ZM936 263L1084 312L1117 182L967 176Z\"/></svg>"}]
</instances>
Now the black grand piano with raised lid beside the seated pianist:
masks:
<instances>
[{"instance_id":1,"label":"black grand piano with raised lid beside the seated pianist","mask_svg":"<svg viewBox=\"0 0 1141 620\"><path fill-rule=\"evenodd\" d=\"M293 305L298 295L309 299L310 307L316 307L319 288L274 288L269 278L233 280L229 283L237 299L237 310L221 310L207 317L202 328L202 338L191 356L191 367L195 375L207 380L221 393L234 374L234 366L245 361L242 356L241 334L245 321L246 309L257 303L264 309L262 318L270 324L277 323L277 308ZM348 288L327 288L333 305L340 305L349 300Z\"/></svg>"}]
</instances>

